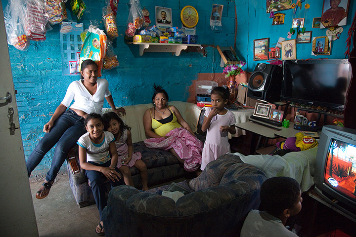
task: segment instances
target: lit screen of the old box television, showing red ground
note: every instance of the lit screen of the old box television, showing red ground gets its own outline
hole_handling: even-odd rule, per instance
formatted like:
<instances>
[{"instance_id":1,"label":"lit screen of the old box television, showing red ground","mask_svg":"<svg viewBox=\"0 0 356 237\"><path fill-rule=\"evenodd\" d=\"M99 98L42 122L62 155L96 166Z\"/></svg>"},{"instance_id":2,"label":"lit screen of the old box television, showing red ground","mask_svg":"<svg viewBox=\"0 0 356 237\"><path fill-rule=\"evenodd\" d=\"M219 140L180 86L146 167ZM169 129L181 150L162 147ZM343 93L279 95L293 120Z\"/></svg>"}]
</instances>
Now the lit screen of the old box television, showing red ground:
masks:
<instances>
[{"instance_id":1,"label":"lit screen of the old box television, showing red ground","mask_svg":"<svg viewBox=\"0 0 356 237\"><path fill-rule=\"evenodd\" d=\"M356 146L331 139L324 182L330 188L356 200Z\"/></svg>"}]
</instances>

